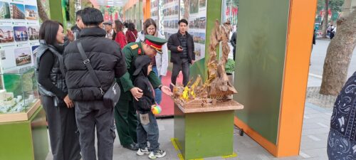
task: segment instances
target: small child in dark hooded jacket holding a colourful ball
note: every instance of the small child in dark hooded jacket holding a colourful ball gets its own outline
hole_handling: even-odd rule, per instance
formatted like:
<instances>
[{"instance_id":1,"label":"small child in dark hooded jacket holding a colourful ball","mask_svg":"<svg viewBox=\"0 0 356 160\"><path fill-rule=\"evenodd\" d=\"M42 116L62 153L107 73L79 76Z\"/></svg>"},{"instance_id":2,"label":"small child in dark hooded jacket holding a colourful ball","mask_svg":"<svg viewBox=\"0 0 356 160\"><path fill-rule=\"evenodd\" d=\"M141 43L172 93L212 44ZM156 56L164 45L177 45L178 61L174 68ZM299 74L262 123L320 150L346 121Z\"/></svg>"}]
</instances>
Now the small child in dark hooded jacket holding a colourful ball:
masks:
<instances>
[{"instance_id":1,"label":"small child in dark hooded jacket holding a colourful ball","mask_svg":"<svg viewBox=\"0 0 356 160\"><path fill-rule=\"evenodd\" d=\"M155 90L153 89L150 80L147 76L152 71L151 59L147 55L137 56L135 60L135 77L134 85L142 90L142 97L134 100L134 106L137 110L137 143L139 149L137 155L142 156L149 154L150 159L161 158L166 155L166 152L159 149L158 137L159 130L155 115L152 113L152 108L155 107ZM147 141L150 142L150 147L147 146Z\"/></svg>"}]
</instances>

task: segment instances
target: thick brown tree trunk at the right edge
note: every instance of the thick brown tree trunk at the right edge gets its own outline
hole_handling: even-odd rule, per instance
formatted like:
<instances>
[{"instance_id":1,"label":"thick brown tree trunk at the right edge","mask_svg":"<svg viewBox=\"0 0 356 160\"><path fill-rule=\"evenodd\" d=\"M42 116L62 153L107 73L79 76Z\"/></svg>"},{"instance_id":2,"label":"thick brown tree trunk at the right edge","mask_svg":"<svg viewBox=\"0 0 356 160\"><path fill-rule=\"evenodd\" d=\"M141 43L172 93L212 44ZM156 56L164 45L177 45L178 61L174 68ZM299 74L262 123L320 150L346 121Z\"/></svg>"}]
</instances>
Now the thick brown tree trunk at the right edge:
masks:
<instances>
[{"instance_id":1,"label":"thick brown tree trunk at the right edge","mask_svg":"<svg viewBox=\"0 0 356 160\"><path fill-rule=\"evenodd\" d=\"M356 11L337 20L337 33L330 41L323 70L320 94L338 95L347 78L352 52L356 46Z\"/></svg>"}]
</instances>

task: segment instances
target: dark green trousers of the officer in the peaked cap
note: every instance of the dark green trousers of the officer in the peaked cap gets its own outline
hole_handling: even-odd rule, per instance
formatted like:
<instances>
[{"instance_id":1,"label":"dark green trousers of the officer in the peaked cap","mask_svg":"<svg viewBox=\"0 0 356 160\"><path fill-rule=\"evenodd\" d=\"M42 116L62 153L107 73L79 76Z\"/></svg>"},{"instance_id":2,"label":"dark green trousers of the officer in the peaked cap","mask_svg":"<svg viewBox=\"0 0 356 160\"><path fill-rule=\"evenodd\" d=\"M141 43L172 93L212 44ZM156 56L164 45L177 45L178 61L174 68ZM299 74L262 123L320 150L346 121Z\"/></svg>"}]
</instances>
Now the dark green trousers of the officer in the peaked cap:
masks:
<instances>
[{"instance_id":1,"label":"dark green trousers of the officer in the peaked cap","mask_svg":"<svg viewBox=\"0 0 356 160\"><path fill-rule=\"evenodd\" d=\"M132 100L122 100L115 106L115 124L122 146L137 143L137 117Z\"/></svg>"}]
</instances>

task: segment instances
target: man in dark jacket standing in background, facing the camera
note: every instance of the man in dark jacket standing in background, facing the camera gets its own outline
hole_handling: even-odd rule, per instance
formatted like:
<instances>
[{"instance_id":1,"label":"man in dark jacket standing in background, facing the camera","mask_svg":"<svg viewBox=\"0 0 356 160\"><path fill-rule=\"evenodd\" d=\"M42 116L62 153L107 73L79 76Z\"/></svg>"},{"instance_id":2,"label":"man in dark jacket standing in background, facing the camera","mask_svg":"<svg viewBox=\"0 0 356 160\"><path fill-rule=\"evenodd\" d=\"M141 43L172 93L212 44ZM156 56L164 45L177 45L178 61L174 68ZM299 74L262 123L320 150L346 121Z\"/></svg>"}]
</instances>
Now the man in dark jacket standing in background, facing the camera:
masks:
<instances>
[{"instance_id":1,"label":"man in dark jacket standing in background, facing the camera","mask_svg":"<svg viewBox=\"0 0 356 160\"><path fill-rule=\"evenodd\" d=\"M189 65L194 63L194 41L193 37L187 32L188 21L181 19L179 22L178 33L172 34L168 39L168 49L171 50L172 86L176 85L179 71L183 73L183 85L186 86L189 81Z\"/></svg>"}]
</instances>

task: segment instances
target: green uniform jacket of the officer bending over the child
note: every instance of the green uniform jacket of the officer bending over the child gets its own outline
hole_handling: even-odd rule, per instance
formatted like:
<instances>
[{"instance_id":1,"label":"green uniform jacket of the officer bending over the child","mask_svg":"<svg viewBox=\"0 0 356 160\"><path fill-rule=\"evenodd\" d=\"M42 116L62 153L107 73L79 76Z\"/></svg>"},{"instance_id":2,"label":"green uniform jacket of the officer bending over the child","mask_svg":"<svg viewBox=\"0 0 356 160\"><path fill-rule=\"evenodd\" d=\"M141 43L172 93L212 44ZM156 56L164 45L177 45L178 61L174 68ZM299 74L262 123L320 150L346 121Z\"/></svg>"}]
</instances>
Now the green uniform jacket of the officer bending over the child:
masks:
<instances>
[{"instance_id":1,"label":"green uniform jacket of the officer bending over the child","mask_svg":"<svg viewBox=\"0 0 356 160\"><path fill-rule=\"evenodd\" d=\"M132 100L132 94L130 92L130 89L132 87L135 87L133 85L133 81L135 80L135 78L132 76L136 69L134 65L135 60L137 56L145 55L145 53L143 52L141 42L127 44L122 49L122 52L125 54L127 73L125 73L125 75L123 75L120 79L117 79L116 81L121 87L120 99ZM159 87L159 85L162 85L161 80L157 78L157 75L155 75L155 72L153 71L151 71L150 75L148 75L148 79L150 80L154 88L157 88Z\"/></svg>"}]
</instances>

